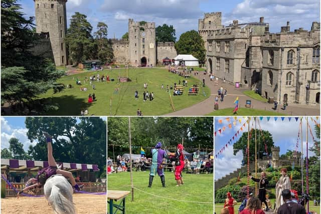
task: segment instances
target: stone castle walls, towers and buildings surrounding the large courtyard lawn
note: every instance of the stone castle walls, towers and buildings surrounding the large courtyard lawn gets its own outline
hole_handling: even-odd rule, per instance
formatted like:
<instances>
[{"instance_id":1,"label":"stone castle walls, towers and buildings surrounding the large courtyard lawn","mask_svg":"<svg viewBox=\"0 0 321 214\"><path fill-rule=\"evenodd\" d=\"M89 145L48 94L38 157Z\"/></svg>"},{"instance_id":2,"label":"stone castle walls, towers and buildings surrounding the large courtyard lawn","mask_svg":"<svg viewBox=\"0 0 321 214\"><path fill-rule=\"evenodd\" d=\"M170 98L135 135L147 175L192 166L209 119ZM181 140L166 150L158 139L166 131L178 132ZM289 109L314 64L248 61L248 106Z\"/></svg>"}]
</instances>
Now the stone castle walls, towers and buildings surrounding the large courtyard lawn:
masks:
<instances>
[{"instance_id":1,"label":"stone castle walls, towers and buildings surrounding the large courtyard lawn","mask_svg":"<svg viewBox=\"0 0 321 214\"><path fill-rule=\"evenodd\" d=\"M68 65L64 42L67 33L67 0L34 0L36 32L43 36L36 53L52 57L56 66ZM310 30L291 31L290 23L279 33L258 22L222 25L222 14L205 13L198 22L205 42L206 72L231 84L257 89L278 103L316 105L320 96L320 23ZM155 65L166 57L174 59L174 43L155 42L155 23L128 20L128 40L110 39L114 60L120 64Z\"/></svg>"}]
</instances>

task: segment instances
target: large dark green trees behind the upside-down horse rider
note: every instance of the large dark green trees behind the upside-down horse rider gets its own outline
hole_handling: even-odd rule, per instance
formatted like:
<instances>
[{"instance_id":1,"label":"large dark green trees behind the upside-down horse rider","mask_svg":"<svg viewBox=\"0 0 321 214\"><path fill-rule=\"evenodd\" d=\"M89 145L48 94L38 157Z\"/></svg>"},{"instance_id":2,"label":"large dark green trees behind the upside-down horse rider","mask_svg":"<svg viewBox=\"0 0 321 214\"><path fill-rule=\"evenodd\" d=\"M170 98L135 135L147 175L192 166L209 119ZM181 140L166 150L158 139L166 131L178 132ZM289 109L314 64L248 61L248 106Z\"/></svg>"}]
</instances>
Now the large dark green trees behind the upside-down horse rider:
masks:
<instances>
[{"instance_id":1,"label":"large dark green trees behind the upside-down horse rider","mask_svg":"<svg viewBox=\"0 0 321 214\"><path fill-rule=\"evenodd\" d=\"M47 143L43 132L53 137L56 161L97 164L100 172L106 165L106 123L98 117L27 117L27 136L38 140L29 147L37 160L47 160Z\"/></svg>"}]
</instances>

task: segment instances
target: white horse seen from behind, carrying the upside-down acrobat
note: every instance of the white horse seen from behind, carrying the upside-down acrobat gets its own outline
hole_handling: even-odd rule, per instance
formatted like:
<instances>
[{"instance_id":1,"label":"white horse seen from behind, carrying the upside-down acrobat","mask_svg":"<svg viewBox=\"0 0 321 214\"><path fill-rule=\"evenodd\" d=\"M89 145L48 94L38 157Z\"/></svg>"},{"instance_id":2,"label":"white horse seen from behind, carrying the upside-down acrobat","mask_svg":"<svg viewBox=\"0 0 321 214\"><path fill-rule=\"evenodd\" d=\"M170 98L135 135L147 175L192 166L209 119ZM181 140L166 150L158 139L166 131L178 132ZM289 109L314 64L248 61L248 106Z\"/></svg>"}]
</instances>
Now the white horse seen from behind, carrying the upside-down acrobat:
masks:
<instances>
[{"instance_id":1,"label":"white horse seen from behind, carrying the upside-down acrobat","mask_svg":"<svg viewBox=\"0 0 321 214\"><path fill-rule=\"evenodd\" d=\"M57 174L48 178L44 185L44 194L54 209L54 213L76 213L72 200L72 186L63 175Z\"/></svg>"}]
</instances>

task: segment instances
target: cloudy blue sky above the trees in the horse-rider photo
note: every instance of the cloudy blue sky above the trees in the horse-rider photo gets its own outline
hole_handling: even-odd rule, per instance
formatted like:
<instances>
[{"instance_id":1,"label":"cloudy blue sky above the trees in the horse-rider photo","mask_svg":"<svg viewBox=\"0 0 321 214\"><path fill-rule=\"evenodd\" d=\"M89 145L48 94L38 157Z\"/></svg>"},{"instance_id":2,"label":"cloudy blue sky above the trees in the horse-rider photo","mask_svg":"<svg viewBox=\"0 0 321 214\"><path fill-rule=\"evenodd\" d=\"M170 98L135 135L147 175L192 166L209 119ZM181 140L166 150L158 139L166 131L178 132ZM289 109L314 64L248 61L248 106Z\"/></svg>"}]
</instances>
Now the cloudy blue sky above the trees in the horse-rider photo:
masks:
<instances>
[{"instance_id":1,"label":"cloudy blue sky above the trees in the horse-rider photo","mask_svg":"<svg viewBox=\"0 0 321 214\"><path fill-rule=\"evenodd\" d=\"M106 121L106 117L100 117ZM24 149L28 152L29 145L35 145L27 137L28 129L25 124L26 117L1 117L1 149L9 148L9 140L16 137L24 144Z\"/></svg>"}]
</instances>

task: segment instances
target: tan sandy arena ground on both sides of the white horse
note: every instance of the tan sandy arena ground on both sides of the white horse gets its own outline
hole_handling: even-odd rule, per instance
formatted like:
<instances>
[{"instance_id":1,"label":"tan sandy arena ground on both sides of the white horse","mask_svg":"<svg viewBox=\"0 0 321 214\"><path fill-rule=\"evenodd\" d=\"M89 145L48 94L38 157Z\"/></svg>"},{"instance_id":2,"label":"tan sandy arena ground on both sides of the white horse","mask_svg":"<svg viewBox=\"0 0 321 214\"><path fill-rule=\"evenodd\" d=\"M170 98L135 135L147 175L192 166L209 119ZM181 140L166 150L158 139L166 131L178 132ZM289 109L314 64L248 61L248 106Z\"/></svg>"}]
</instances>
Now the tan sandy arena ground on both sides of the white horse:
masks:
<instances>
[{"instance_id":1,"label":"tan sandy arena ground on both sides of the white horse","mask_svg":"<svg viewBox=\"0 0 321 214\"><path fill-rule=\"evenodd\" d=\"M78 214L106 214L106 195L74 194L73 200ZM39 214L54 213L45 197L6 197L1 198L2 214Z\"/></svg>"}]
</instances>

